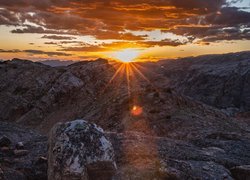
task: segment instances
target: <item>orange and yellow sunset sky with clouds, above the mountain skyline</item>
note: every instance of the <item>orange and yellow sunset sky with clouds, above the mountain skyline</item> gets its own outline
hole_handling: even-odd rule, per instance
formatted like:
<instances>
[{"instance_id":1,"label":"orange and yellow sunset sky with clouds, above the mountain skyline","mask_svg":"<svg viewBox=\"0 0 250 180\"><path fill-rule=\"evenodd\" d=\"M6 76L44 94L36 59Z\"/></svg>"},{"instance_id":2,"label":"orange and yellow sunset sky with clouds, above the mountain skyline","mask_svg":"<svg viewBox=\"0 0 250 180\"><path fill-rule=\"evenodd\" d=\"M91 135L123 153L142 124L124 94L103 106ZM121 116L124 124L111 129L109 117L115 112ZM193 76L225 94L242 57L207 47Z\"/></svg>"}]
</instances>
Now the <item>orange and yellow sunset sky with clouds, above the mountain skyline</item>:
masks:
<instances>
[{"instance_id":1,"label":"orange and yellow sunset sky with clouds, above the mountain skyline","mask_svg":"<svg viewBox=\"0 0 250 180\"><path fill-rule=\"evenodd\" d=\"M250 0L0 0L0 59L154 61L250 50Z\"/></svg>"}]
</instances>

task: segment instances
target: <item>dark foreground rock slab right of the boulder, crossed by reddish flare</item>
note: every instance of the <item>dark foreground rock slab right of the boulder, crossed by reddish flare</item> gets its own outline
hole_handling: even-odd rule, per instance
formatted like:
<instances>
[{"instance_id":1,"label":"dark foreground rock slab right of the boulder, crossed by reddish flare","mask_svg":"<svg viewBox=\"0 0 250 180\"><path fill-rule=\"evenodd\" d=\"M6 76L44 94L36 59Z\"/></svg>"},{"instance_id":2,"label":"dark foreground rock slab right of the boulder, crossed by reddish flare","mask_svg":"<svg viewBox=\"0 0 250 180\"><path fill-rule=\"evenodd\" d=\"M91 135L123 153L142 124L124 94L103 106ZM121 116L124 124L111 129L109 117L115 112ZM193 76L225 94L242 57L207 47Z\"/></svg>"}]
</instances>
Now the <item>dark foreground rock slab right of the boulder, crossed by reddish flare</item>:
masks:
<instances>
[{"instance_id":1,"label":"dark foreground rock slab right of the boulder, crossed by reddish flare","mask_svg":"<svg viewBox=\"0 0 250 180\"><path fill-rule=\"evenodd\" d=\"M111 133L109 137L116 152L117 179L250 177L249 168L242 173L250 160L249 136L213 134L195 141L183 141L128 132Z\"/></svg>"}]
</instances>

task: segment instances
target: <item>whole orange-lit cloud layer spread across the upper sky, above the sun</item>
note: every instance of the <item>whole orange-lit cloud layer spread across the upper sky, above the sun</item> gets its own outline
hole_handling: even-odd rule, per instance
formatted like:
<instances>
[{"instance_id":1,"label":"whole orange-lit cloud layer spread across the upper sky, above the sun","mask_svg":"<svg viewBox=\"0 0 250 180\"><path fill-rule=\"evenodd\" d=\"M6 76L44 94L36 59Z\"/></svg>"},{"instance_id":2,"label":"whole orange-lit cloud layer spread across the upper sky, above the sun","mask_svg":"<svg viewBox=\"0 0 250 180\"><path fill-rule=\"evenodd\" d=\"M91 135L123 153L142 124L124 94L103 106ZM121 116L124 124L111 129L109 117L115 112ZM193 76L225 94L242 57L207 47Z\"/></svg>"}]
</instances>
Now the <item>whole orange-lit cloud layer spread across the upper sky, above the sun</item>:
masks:
<instances>
[{"instance_id":1,"label":"whole orange-lit cloud layer spread across the upper sky, above the sun","mask_svg":"<svg viewBox=\"0 0 250 180\"><path fill-rule=\"evenodd\" d=\"M92 36L97 40L116 40L116 45L120 46L115 47L115 43L86 46L74 41L45 43L58 45L66 51L249 39L246 31L250 27L250 12L229 7L232 3L226 0L0 0L0 25L15 27L12 33L44 34L42 38L46 39L73 40L75 36ZM134 33L156 29L186 36L187 40L152 41L146 33ZM62 47L70 43L79 44Z\"/></svg>"}]
</instances>

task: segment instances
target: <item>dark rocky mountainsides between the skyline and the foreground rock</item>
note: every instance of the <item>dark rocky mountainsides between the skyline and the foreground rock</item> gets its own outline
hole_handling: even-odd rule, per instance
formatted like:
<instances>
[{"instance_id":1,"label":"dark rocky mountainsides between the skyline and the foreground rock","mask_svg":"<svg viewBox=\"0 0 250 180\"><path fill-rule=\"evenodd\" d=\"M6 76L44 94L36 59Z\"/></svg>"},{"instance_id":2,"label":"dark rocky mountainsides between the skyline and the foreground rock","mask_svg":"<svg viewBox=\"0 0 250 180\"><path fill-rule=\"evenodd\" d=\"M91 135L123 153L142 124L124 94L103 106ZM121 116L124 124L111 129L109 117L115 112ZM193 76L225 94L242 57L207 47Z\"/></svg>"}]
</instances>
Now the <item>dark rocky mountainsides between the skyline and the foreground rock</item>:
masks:
<instances>
[{"instance_id":1,"label":"dark rocky mountainsides between the skyline and the foreground rock","mask_svg":"<svg viewBox=\"0 0 250 180\"><path fill-rule=\"evenodd\" d=\"M133 63L128 73L116 73L121 64L101 59L57 68L18 59L2 62L0 112L4 113L0 113L0 121L18 122L46 133L59 121L84 118L106 130L148 131L143 128L149 126L156 129L151 133L158 135L182 125L191 128L190 123L183 124L189 119L201 121L200 128L210 119L231 122L223 113L195 100L226 109L229 115L245 112L248 119L249 57L250 53L244 52ZM112 78L114 74L117 76ZM131 116L133 106L143 109L139 117L143 122L134 123L138 117ZM200 120L203 118L206 120Z\"/></svg>"}]
</instances>

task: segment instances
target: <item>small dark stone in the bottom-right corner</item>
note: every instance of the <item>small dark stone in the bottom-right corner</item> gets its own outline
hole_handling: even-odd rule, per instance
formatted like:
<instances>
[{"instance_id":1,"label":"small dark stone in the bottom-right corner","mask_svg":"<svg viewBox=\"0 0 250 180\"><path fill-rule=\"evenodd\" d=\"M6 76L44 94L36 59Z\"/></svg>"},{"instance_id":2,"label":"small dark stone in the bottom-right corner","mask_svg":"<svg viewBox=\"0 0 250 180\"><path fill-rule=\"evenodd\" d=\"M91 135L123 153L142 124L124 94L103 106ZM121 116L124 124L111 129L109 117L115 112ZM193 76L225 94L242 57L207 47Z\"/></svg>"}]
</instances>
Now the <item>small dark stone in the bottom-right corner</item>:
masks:
<instances>
[{"instance_id":1,"label":"small dark stone in the bottom-right corner","mask_svg":"<svg viewBox=\"0 0 250 180\"><path fill-rule=\"evenodd\" d=\"M236 180L249 180L250 165L236 166L231 169L231 173Z\"/></svg>"}]
</instances>

